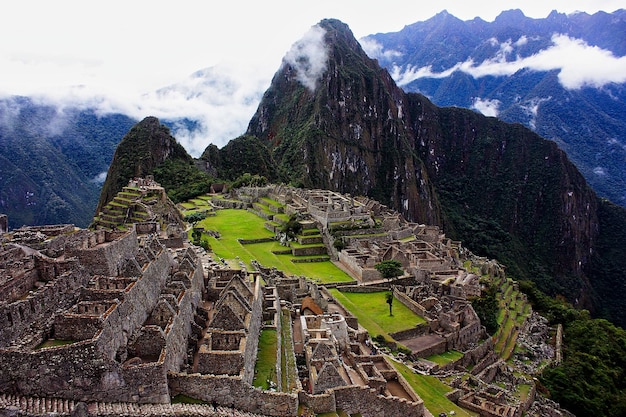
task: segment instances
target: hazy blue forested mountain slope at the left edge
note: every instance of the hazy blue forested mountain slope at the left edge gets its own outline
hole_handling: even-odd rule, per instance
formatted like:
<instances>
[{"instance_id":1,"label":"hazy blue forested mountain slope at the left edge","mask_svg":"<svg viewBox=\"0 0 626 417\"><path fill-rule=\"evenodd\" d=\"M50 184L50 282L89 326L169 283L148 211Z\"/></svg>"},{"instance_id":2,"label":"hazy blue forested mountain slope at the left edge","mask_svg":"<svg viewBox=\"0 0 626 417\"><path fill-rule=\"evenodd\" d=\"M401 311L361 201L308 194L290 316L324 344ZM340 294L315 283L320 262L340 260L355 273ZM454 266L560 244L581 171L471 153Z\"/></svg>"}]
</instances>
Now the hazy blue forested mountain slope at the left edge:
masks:
<instances>
[{"instance_id":1,"label":"hazy blue forested mountain slope at the left edge","mask_svg":"<svg viewBox=\"0 0 626 417\"><path fill-rule=\"evenodd\" d=\"M134 120L89 110L0 100L0 213L11 228L73 223L86 227L101 174Z\"/></svg>"}]
</instances>

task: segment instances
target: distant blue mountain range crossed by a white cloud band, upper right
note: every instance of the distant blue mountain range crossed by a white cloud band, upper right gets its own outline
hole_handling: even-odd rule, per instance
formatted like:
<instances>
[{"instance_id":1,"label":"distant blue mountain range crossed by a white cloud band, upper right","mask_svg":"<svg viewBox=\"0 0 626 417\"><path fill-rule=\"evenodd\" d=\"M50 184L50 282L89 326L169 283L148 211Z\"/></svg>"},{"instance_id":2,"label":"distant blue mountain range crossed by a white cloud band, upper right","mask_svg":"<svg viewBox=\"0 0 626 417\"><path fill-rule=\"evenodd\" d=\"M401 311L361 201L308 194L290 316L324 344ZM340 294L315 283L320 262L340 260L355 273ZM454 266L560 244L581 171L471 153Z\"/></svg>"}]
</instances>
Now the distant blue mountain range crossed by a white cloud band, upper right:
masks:
<instances>
[{"instance_id":1,"label":"distant blue mountain range crossed by a white cloud band, upper right","mask_svg":"<svg viewBox=\"0 0 626 417\"><path fill-rule=\"evenodd\" d=\"M602 197L626 205L626 10L520 10L493 22L447 12L361 40L407 92L555 141ZM617 64L617 65L616 65Z\"/></svg>"}]
</instances>

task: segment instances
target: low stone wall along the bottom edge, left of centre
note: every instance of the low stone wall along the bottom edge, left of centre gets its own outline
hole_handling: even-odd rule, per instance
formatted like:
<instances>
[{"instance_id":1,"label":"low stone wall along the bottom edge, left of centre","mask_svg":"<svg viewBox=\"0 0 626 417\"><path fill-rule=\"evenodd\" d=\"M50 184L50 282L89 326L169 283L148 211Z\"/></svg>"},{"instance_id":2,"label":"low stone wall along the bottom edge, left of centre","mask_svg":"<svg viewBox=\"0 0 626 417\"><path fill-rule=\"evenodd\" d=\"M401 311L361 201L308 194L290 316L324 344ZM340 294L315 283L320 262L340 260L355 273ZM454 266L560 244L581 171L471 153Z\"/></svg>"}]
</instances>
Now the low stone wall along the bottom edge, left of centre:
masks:
<instances>
[{"instance_id":1,"label":"low stone wall along the bottom edge, left of centre","mask_svg":"<svg viewBox=\"0 0 626 417\"><path fill-rule=\"evenodd\" d=\"M239 377L181 374L168 375L172 396L184 394L206 402L268 416L298 415L298 396L254 388Z\"/></svg>"}]
</instances>

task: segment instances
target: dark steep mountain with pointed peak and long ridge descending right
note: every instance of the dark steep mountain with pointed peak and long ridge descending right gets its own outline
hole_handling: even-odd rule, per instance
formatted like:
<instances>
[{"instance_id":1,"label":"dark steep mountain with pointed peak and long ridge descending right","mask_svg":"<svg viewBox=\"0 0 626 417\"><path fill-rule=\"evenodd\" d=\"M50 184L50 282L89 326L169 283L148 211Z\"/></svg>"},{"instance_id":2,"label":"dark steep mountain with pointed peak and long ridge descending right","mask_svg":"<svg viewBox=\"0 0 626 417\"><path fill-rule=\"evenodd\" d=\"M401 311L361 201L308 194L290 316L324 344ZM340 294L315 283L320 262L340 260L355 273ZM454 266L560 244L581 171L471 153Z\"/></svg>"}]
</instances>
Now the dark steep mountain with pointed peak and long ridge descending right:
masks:
<instances>
[{"instance_id":1,"label":"dark steep mountain with pointed peak and long ridge descending right","mask_svg":"<svg viewBox=\"0 0 626 417\"><path fill-rule=\"evenodd\" d=\"M313 32L319 42L294 45L247 131L284 181L375 198L518 279L599 305L588 276L600 202L564 152L521 125L404 93L337 20Z\"/></svg>"}]
</instances>

